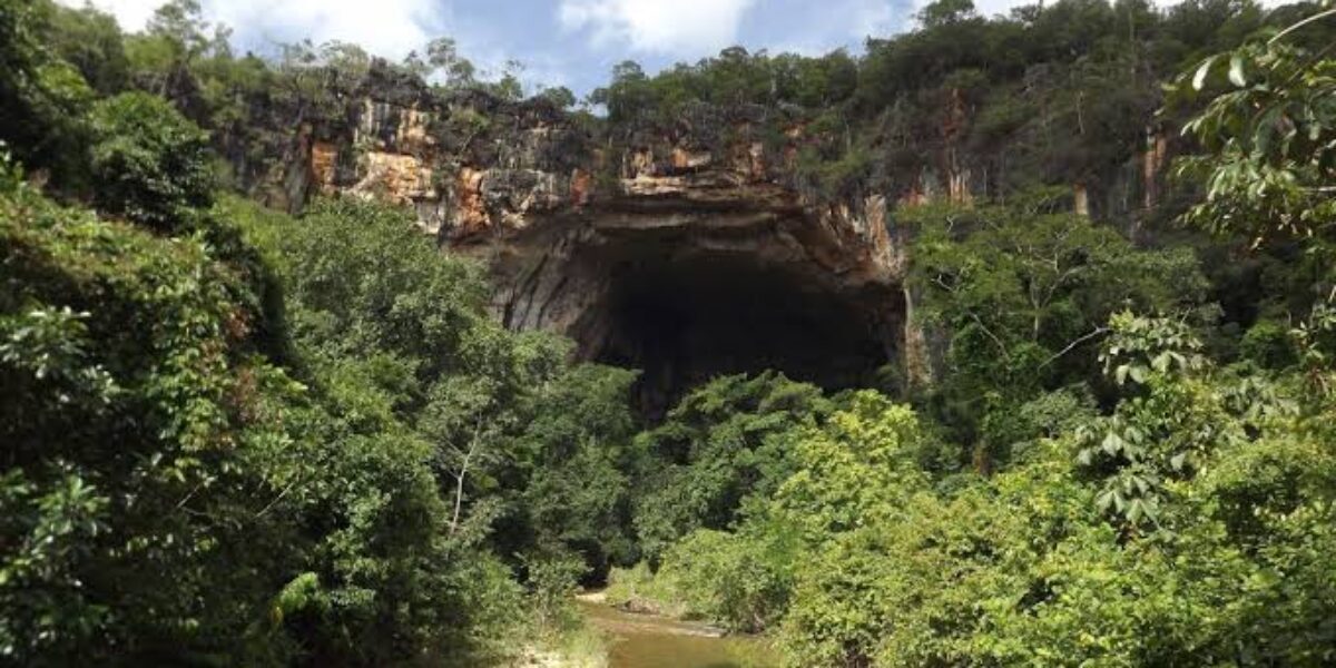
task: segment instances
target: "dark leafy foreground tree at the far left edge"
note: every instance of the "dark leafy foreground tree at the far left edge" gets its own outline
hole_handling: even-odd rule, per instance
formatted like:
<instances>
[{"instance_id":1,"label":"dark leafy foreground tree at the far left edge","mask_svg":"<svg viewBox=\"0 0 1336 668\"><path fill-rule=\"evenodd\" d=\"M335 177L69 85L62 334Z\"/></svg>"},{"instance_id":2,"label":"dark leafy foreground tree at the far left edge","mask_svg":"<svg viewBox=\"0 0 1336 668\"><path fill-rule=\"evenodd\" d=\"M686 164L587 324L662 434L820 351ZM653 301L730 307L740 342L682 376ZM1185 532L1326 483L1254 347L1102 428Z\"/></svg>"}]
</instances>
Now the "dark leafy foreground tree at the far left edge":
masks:
<instances>
[{"instance_id":1,"label":"dark leafy foreground tree at the far left edge","mask_svg":"<svg viewBox=\"0 0 1336 668\"><path fill-rule=\"evenodd\" d=\"M0 660L285 655L261 620L302 565L301 389L253 354L251 275L212 251L0 167Z\"/></svg>"}]
</instances>

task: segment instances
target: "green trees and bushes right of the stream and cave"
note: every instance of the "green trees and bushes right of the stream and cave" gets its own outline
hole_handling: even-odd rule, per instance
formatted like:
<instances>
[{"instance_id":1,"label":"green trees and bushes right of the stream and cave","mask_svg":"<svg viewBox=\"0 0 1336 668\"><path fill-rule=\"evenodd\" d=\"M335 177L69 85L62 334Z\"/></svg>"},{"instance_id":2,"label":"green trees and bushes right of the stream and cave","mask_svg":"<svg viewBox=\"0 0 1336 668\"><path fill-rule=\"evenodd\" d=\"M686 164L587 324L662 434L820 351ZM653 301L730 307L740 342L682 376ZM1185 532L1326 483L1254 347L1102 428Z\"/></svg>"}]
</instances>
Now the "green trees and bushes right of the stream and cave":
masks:
<instances>
[{"instance_id":1,"label":"green trees and bushes right of the stream and cave","mask_svg":"<svg viewBox=\"0 0 1336 668\"><path fill-rule=\"evenodd\" d=\"M1332 661L1331 60L1296 25L1170 90L1208 100L1182 219L1252 246L1260 286L1042 191L902 211L946 375L916 411L834 398L727 533L613 597L775 628L796 665Z\"/></svg>"}]
</instances>

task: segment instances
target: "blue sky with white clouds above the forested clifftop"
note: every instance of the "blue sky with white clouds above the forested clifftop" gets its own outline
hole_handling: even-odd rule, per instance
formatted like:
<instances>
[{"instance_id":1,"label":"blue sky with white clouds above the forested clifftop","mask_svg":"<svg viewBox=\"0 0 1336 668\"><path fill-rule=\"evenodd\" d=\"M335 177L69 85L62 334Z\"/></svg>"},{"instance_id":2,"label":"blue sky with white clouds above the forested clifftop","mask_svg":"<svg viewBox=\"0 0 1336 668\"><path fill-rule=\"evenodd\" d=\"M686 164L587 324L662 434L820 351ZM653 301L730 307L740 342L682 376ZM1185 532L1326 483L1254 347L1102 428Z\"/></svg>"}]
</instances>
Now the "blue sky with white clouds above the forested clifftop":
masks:
<instances>
[{"instance_id":1,"label":"blue sky with white clouds above the forested clifftop","mask_svg":"<svg viewBox=\"0 0 1336 668\"><path fill-rule=\"evenodd\" d=\"M81 4L84 0L60 0ZM162 0L92 0L136 31ZM926 0L200 0L207 19L230 25L239 49L311 37L343 40L402 57L448 35L482 69L508 59L524 80L566 86L584 95L632 59L648 71L695 61L741 44L748 49L823 53L858 51L868 35L912 25ZM1033 1L1033 0L1031 0ZM1025 0L975 0L982 13L1005 13Z\"/></svg>"}]
</instances>

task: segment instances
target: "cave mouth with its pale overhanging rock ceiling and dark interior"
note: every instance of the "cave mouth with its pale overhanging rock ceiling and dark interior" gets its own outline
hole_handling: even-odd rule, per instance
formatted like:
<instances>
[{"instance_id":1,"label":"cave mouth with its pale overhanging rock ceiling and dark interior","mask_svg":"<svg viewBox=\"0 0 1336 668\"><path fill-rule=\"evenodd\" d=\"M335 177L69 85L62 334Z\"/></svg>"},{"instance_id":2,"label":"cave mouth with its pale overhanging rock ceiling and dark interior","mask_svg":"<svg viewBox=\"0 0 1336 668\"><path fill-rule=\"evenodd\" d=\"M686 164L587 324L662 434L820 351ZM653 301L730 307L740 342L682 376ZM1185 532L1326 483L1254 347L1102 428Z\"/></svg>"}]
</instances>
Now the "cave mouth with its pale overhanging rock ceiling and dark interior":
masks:
<instances>
[{"instance_id":1,"label":"cave mouth with its pale overhanging rock ceiling and dark interior","mask_svg":"<svg viewBox=\"0 0 1336 668\"><path fill-rule=\"evenodd\" d=\"M898 362L904 307L890 244L774 184L684 183L639 179L490 239L502 322L643 370L649 415L717 375L774 369L844 389Z\"/></svg>"}]
</instances>

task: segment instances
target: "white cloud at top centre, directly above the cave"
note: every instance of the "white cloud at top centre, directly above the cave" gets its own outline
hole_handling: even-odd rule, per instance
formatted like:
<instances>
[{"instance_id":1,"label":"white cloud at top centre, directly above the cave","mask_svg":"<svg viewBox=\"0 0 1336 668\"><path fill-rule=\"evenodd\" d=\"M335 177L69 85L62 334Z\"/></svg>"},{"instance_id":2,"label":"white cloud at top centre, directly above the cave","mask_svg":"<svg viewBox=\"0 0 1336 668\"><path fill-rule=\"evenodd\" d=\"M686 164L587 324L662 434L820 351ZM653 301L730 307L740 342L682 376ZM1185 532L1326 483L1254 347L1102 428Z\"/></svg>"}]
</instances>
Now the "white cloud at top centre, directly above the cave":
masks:
<instances>
[{"instance_id":1,"label":"white cloud at top centre, directly above the cave","mask_svg":"<svg viewBox=\"0 0 1336 668\"><path fill-rule=\"evenodd\" d=\"M754 0L561 0L557 17L568 31L589 31L600 47L625 43L635 51L704 53L737 40Z\"/></svg>"}]
</instances>

